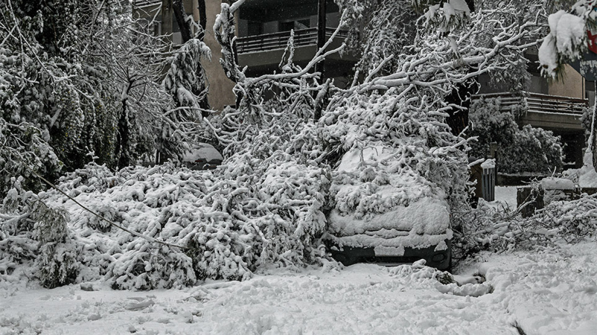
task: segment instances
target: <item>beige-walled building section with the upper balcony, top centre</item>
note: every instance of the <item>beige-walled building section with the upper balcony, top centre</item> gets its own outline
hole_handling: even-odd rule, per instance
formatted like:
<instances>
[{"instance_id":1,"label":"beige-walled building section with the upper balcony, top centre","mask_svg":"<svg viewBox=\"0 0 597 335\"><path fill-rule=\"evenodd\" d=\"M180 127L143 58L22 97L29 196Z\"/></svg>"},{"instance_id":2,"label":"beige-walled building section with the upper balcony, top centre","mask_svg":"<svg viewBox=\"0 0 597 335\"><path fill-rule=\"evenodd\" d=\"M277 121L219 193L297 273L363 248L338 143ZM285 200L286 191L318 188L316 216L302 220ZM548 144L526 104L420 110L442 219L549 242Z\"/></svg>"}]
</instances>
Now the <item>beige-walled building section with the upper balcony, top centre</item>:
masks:
<instances>
[{"instance_id":1,"label":"beige-walled building section with the upper balcony, top centre","mask_svg":"<svg viewBox=\"0 0 597 335\"><path fill-rule=\"evenodd\" d=\"M219 60L220 45L214 38L213 25L216 15L220 13L221 0L205 0L207 17L204 42L211 51L210 60L202 61L209 82L208 101L210 106L221 110L224 106L235 104L232 93L234 83L224 75ZM182 42L180 29L168 11L170 1L136 0L137 10L134 15L151 20L155 17L156 33L171 34L174 46ZM199 20L198 0L184 0L187 15ZM321 12L321 10L324 12ZM163 13L168 13L162 15ZM326 13L325 15L318 15ZM294 63L304 66L313 58L318 44L331 36L338 27L340 14L333 0L327 0L322 6L319 0L250 0L243 4L236 13L236 40L238 64L247 67L248 76L279 72L279 63L294 30ZM319 28L321 27L321 29ZM345 35L344 35L345 36ZM334 41L330 48L341 45L341 38ZM325 61L324 77L334 78L336 85L347 85L347 80L356 62L351 54L335 54Z\"/></svg>"}]
</instances>

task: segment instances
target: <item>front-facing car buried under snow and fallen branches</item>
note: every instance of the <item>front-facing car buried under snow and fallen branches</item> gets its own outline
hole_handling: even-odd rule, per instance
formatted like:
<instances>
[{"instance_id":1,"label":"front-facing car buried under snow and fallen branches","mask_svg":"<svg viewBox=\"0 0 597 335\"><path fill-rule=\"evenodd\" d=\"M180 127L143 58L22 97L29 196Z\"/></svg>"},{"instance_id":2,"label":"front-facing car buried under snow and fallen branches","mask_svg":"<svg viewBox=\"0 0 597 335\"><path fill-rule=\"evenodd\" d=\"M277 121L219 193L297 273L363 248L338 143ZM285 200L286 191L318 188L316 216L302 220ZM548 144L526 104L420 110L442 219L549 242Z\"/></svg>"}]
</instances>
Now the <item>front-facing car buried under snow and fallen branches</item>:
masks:
<instances>
[{"instance_id":1,"label":"front-facing car buried under snow and fallen branches","mask_svg":"<svg viewBox=\"0 0 597 335\"><path fill-rule=\"evenodd\" d=\"M324 235L331 255L356 262L451 265L450 207L432 182L404 168L383 145L344 154L333 177Z\"/></svg>"}]
</instances>

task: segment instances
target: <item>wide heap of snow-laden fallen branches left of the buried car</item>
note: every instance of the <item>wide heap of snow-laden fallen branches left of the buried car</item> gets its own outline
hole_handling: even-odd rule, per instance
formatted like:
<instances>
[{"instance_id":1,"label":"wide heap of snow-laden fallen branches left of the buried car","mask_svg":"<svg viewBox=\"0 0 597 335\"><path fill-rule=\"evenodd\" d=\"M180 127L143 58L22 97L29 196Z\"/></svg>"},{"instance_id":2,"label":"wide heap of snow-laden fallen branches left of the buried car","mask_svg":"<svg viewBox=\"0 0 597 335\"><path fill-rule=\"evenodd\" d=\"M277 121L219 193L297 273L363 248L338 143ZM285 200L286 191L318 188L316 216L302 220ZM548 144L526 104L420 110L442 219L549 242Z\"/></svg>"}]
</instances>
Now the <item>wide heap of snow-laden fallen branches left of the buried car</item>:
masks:
<instances>
[{"instance_id":1,"label":"wide heap of snow-laden fallen branches left of the buried car","mask_svg":"<svg viewBox=\"0 0 597 335\"><path fill-rule=\"evenodd\" d=\"M115 289L146 290L318 262L327 170L282 151L251 157L233 156L237 164L221 175L173 165L110 172L92 163L59 179L60 190L95 213L53 189L40 202L15 179L0 216L2 275L27 265L47 287L104 278Z\"/></svg>"}]
</instances>

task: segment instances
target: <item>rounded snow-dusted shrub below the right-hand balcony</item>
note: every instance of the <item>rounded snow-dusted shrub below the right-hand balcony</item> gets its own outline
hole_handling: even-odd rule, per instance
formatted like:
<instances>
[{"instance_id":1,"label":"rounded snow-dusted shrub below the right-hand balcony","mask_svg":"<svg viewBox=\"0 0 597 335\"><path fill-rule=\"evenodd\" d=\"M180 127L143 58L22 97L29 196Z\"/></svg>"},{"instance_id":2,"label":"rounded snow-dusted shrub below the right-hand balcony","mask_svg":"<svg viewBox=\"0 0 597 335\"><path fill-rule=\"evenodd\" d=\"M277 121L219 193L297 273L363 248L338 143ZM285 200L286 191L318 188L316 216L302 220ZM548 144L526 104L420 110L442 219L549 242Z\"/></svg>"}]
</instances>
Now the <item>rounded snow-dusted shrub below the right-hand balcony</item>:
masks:
<instances>
[{"instance_id":1,"label":"rounded snow-dusted shrub below the right-hand balcony","mask_svg":"<svg viewBox=\"0 0 597 335\"><path fill-rule=\"evenodd\" d=\"M522 129L516 124L517 117L525 113L525 106L510 111L501 110L500 98L480 98L473 101L470 108L471 156L488 157L490 143L497 142L497 169L500 172L550 173L560 171L564 153L559 137L552 132L529 125Z\"/></svg>"}]
</instances>

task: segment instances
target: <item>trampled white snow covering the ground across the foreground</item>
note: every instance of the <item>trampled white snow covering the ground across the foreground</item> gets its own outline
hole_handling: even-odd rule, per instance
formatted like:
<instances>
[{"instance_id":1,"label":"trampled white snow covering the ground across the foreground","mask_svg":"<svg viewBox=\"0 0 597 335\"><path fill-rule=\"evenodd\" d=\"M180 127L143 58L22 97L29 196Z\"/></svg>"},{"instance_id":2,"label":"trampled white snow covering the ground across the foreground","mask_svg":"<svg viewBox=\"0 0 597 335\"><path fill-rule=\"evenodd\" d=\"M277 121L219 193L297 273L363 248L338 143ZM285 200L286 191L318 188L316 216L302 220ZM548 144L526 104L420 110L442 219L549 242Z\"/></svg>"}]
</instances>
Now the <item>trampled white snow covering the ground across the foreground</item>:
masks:
<instances>
[{"instance_id":1,"label":"trampled white snow covering the ground across the foreground","mask_svg":"<svg viewBox=\"0 0 597 335\"><path fill-rule=\"evenodd\" d=\"M0 334L595 334L595 241L481 253L456 270L463 286L373 264L153 291L0 283Z\"/></svg>"}]
</instances>

